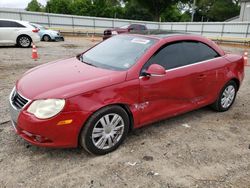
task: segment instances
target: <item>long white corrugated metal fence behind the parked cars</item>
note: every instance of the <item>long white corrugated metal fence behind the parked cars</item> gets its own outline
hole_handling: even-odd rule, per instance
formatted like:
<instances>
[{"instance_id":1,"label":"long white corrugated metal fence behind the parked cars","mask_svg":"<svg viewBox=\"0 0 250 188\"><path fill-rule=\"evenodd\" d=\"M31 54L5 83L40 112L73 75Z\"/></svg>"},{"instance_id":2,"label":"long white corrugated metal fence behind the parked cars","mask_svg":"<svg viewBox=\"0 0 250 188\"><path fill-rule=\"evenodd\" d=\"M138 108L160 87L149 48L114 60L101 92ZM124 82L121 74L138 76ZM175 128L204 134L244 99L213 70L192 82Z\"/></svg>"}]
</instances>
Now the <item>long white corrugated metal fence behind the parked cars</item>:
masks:
<instances>
[{"instance_id":1,"label":"long white corrugated metal fence behind the parked cars","mask_svg":"<svg viewBox=\"0 0 250 188\"><path fill-rule=\"evenodd\" d=\"M3 8L0 8L0 18L26 20L50 28L58 28L71 32L102 33L106 28L141 23L145 24L150 30L189 32L218 38L250 38L250 22L150 22L38 13Z\"/></svg>"}]
</instances>

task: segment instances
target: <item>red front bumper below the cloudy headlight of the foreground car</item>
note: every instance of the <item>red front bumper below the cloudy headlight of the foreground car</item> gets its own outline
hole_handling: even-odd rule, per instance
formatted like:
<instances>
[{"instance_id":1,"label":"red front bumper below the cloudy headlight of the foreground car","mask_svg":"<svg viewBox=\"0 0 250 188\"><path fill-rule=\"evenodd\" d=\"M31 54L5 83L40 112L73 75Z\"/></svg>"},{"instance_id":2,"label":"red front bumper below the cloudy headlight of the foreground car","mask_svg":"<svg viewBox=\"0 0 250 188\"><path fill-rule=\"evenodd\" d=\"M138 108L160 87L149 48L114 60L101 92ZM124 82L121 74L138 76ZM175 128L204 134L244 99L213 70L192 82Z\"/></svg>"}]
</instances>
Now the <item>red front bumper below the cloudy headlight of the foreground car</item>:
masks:
<instances>
[{"instance_id":1,"label":"red front bumper below the cloudy headlight of the foreground car","mask_svg":"<svg viewBox=\"0 0 250 188\"><path fill-rule=\"evenodd\" d=\"M11 122L16 133L29 143L43 147L71 148L78 146L78 136L89 113L82 111L61 112L46 120L37 119L26 111L15 108L10 97ZM72 119L72 123L58 125L58 122Z\"/></svg>"}]
</instances>

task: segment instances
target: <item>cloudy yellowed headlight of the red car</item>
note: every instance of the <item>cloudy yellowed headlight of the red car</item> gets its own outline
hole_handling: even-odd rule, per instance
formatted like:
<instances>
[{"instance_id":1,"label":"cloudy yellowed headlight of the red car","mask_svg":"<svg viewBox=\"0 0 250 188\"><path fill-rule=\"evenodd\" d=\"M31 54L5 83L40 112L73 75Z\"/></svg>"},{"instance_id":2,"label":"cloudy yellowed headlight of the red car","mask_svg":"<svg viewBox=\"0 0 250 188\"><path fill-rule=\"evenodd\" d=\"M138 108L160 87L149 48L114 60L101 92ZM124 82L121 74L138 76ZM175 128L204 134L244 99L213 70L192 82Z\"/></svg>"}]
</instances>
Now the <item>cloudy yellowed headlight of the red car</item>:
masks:
<instances>
[{"instance_id":1,"label":"cloudy yellowed headlight of the red car","mask_svg":"<svg viewBox=\"0 0 250 188\"><path fill-rule=\"evenodd\" d=\"M27 111L39 119L48 119L61 112L64 105L64 99L36 100L32 102Z\"/></svg>"}]
</instances>

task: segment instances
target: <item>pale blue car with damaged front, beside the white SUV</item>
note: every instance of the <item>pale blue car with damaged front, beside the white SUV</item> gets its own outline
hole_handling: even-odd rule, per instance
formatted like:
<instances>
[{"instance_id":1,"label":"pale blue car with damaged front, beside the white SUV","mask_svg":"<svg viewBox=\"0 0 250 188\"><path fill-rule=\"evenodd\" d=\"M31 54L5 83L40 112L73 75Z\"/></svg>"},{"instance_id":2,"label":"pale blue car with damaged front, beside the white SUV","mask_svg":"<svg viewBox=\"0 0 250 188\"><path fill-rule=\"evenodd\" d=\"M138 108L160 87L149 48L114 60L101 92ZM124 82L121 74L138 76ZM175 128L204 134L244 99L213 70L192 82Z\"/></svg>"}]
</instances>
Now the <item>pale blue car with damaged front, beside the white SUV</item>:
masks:
<instances>
[{"instance_id":1,"label":"pale blue car with damaged front, beside the white SUV","mask_svg":"<svg viewBox=\"0 0 250 188\"><path fill-rule=\"evenodd\" d=\"M45 28L44 26L38 25L38 24L31 24L35 28L39 29L39 36L41 38L41 41L64 41L64 37L59 31L54 31Z\"/></svg>"}]
</instances>

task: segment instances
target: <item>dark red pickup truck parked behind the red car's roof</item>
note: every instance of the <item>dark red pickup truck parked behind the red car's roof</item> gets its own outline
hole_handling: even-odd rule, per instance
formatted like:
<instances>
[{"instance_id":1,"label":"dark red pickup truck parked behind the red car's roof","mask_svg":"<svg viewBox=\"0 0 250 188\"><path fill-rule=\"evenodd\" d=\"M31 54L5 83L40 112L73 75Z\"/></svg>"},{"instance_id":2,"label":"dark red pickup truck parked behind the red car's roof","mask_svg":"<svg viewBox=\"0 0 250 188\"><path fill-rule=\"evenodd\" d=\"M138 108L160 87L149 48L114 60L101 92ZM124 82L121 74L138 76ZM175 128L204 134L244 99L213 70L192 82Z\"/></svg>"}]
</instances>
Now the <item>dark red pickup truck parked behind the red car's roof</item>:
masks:
<instances>
[{"instance_id":1,"label":"dark red pickup truck parked behind the red car's roof","mask_svg":"<svg viewBox=\"0 0 250 188\"><path fill-rule=\"evenodd\" d=\"M147 27L142 24L130 24L130 25L124 25L122 27L117 27L114 29L106 29L103 33L103 40L106 40L114 35L118 35L121 33L139 33L139 34L146 34L148 31Z\"/></svg>"}]
</instances>

